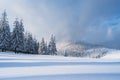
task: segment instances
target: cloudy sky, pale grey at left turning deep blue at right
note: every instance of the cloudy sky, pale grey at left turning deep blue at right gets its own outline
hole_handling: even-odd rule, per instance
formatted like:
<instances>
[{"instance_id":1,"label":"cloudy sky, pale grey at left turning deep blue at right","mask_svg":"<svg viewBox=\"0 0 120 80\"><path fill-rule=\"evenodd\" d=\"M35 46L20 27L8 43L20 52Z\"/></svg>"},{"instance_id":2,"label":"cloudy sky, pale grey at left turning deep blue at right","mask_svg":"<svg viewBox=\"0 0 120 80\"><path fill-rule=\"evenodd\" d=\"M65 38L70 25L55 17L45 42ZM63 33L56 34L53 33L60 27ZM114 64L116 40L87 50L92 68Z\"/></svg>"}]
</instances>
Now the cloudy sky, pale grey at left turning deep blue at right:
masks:
<instances>
[{"instance_id":1,"label":"cloudy sky, pale grey at left turning deep blue at right","mask_svg":"<svg viewBox=\"0 0 120 80\"><path fill-rule=\"evenodd\" d=\"M11 28L16 17L23 19L39 40L54 34L57 40L120 41L120 0L0 0L0 14L4 9Z\"/></svg>"}]
</instances>

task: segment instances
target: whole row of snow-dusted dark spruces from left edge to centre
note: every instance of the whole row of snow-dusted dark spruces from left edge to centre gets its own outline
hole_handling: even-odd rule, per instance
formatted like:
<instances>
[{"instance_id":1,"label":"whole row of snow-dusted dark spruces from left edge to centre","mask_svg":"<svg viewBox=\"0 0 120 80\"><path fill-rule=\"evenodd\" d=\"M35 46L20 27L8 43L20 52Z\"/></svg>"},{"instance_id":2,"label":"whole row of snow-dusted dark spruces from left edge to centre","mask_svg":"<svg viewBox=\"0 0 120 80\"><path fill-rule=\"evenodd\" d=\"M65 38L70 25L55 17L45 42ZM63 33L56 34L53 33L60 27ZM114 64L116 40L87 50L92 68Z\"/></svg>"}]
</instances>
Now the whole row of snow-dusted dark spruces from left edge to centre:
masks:
<instances>
[{"instance_id":1,"label":"whole row of snow-dusted dark spruces from left edge to centre","mask_svg":"<svg viewBox=\"0 0 120 80\"><path fill-rule=\"evenodd\" d=\"M51 36L47 45L44 38L38 42L30 32L25 32L22 20L15 19L13 31L10 26L6 11L3 12L0 19L0 49L2 52L13 51L15 53L29 53L42 55L56 55L55 36Z\"/></svg>"}]
</instances>

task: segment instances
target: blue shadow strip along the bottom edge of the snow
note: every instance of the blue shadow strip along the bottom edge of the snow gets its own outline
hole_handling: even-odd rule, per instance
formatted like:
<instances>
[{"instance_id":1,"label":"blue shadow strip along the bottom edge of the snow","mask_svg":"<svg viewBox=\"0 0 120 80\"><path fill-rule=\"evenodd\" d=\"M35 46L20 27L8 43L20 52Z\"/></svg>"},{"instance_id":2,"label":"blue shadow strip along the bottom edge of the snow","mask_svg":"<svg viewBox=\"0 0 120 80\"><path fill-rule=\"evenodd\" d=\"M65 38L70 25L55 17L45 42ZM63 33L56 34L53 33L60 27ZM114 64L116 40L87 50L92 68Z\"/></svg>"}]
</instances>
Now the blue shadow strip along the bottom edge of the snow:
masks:
<instances>
[{"instance_id":1,"label":"blue shadow strip along the bottom edge of the snow","mask_svg":"<svg viewBox=\"0 0 120 80\"><path fill-rule=\"evenodd\" d=\"M1 80L119 80L120 74L63 74L3 78Z\"/></svg>"}]
</instances>

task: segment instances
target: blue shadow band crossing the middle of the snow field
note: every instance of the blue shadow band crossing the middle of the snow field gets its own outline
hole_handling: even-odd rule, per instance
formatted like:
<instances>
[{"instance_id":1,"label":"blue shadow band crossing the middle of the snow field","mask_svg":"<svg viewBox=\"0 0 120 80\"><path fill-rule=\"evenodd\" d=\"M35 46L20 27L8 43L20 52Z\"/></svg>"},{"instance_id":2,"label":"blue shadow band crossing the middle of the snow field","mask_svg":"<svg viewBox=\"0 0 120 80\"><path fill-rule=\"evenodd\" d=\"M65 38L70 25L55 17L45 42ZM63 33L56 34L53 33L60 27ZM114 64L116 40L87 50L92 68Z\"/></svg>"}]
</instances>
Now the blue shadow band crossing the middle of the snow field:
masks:
<instances>
[{"instance_id":1,"label":"blue shadow band crossing the middle of the snow field","mask_svg":"<svg viewBox=\"0 0 120 80\"><path fill-rule=\"evenodd\" d=\"M0 68L60 65L120 65L120 62L0 62Z\"/></svg>"}]
</instances>

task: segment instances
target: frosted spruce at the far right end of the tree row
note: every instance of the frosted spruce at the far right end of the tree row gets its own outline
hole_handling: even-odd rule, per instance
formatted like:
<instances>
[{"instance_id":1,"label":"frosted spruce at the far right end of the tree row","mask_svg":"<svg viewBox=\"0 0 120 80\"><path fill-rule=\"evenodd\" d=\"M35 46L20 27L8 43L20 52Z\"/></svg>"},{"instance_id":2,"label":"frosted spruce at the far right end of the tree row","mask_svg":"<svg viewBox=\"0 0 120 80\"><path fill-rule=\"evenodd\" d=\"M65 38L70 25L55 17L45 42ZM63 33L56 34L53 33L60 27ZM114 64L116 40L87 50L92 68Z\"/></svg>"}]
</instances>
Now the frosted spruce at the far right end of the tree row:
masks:
<instances>
[{"instance_id":1,"label":"frosted spruce at the far right end of the tree row","mask_svg":"<svg viewBox=\"0 0 120 80\"><path fill-rule=\"evenodd\" d=\"M56 49L56 40L55 36L51 36L49 45L48 45L48 54L49 55L57 55L57 49Z\"/></svg>"}]
</instances>

